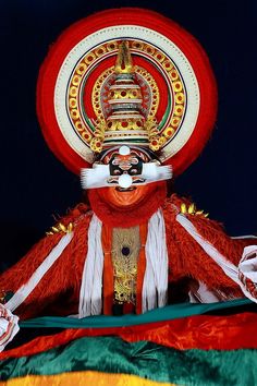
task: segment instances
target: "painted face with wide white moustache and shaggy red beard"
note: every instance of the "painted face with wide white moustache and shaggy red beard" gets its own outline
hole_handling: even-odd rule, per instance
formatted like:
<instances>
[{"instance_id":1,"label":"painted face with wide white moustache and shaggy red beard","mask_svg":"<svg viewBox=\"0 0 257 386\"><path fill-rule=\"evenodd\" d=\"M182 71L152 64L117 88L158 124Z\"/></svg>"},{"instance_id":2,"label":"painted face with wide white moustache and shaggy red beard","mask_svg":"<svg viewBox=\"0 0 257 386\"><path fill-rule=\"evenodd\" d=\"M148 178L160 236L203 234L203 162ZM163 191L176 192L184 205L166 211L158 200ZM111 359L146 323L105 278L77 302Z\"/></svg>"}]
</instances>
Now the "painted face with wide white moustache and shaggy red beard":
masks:
<instances>
[{"instance_id":1,"label":"painted face with wide white moustache and shaggy red beard","mask_svg":"<svg viewBox=\"0 0 257 386\"><path fill-rule=\"evenodd\" d=\"M128 146L108 152L94 165L93 169L84 169L82 183L85 178L83 188L88 189L88 198L97 214L106 205L108 213L114 208L126 216L133 213L137 218L146 203L155 207L154 202L159 204L159 198L166 196L164 180L172 176L170 167L161 166L148 153Z\"/></svg>"}]
</instances>

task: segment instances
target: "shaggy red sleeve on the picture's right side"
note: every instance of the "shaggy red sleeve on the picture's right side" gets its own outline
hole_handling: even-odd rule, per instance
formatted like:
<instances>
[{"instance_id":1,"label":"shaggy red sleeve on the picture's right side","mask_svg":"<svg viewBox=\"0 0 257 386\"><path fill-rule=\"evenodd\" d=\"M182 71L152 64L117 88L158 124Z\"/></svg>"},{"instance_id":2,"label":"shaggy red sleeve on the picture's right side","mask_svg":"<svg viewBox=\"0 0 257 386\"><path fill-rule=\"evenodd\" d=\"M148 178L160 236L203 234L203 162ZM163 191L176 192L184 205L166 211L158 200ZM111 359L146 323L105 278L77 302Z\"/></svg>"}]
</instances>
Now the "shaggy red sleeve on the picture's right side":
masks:
<instances>
[{"instance_id":1,"label":"shaggy red sleeve on the picture's right side","mask_svg":"<svg viewBox=\"0 0 257 386\"><path fill-rule=\"evenodd\" d=\"M203 281L209 289L242 297L238 286L224 274L218 264L207 255L193 237L176 221L176 215L181 213L181 204L183 203L186 203L187 208L191 205L188 201L172 195L163 208L170 281L189 277L197 281ZM244 246L254 241L250 239L231 239L220 224L206 218L203 214L187 213L184 215L204 239L236 266L242 257Z\"/></svg>"}]
</instances>

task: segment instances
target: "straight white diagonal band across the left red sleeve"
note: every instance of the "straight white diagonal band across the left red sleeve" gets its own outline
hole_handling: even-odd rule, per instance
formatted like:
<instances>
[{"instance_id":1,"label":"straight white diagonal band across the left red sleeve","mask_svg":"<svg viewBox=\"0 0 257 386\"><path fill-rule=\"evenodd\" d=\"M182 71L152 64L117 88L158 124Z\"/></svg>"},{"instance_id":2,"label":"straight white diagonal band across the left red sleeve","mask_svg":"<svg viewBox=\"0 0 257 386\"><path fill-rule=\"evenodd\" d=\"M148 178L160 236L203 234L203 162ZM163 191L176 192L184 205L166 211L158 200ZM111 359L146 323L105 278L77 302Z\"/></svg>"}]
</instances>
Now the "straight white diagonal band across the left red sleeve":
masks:
<instances>
[{"instance_id":1,"label":"straight white diagonal band across the left red sleeve","mask_svg":"<svg viewBox=\"0 0 257 386\"><path fill-rule=\"evenodd\" d=\"M60 257L66 245L71 242L73 232L66 233L59 243L51 250L49 255L44 260L39 267L35 270L28 281L20 287L14 295L4 304L4 306L11 311L14 311L21 305L24 300L32 293L41 278L51 268L52 264Z\"/></svg>"}]
</instances>

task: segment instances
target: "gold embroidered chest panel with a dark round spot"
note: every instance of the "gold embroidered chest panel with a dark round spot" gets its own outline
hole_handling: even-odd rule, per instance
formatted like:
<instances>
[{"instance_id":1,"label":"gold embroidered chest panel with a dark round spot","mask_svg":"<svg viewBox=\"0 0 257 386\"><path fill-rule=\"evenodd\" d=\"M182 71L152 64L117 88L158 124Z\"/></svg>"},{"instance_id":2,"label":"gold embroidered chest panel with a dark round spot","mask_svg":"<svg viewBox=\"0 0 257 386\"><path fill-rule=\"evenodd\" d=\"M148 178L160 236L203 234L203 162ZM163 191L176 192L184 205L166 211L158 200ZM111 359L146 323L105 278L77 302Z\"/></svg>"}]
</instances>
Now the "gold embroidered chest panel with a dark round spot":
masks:
<instances>
[{"instance_id":1,"label":"gold embroidered chest panel with a dark round spot","mask_svg":"<svg viewBox=\"0 0 257 386\"><path fill-rule=\"evenodd\" d=\"M114 270L114 300L118 303L130 302L135 304L139 250L139 227L113 229L112 264Z\"/></svg>"}]
</instances>

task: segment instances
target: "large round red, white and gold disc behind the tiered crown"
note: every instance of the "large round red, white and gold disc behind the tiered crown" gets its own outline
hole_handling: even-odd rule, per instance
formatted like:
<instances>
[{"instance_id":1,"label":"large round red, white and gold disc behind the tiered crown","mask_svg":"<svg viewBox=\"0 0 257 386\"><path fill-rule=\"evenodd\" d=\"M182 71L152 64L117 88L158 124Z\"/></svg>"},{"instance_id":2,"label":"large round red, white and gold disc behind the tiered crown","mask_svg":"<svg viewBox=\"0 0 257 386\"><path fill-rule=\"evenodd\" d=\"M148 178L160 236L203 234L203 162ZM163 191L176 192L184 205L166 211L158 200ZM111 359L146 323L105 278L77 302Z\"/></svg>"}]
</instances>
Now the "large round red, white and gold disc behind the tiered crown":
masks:
<instances>
[{"instance_id":1,"label":"large round red, white and gold disc behind the tiered crown","mask_svg":"<svg viewBox=\"0 0 257 386\"><path fill-rule=\"evenodd\" d=\"M160 149L162 164L172 165L178 176L199 155L211 133L217 87L208 58L195 38L152 11L102 11L73 24L60 36L38 79L37 112L45 138L75 173L94 161L99 126L111 114L108 95L115 82L122 41L130 49L136 77L130 93L140 88L134 98L140 98L144 117L158 123L150 137L151 149ZM134 119L131 124L138 129L134 125L142 125L142 121ZM144 133L137 132L133 141L140 146ZM111 144L125 141L117 134Z\"/></svg>"}]
</instances>

